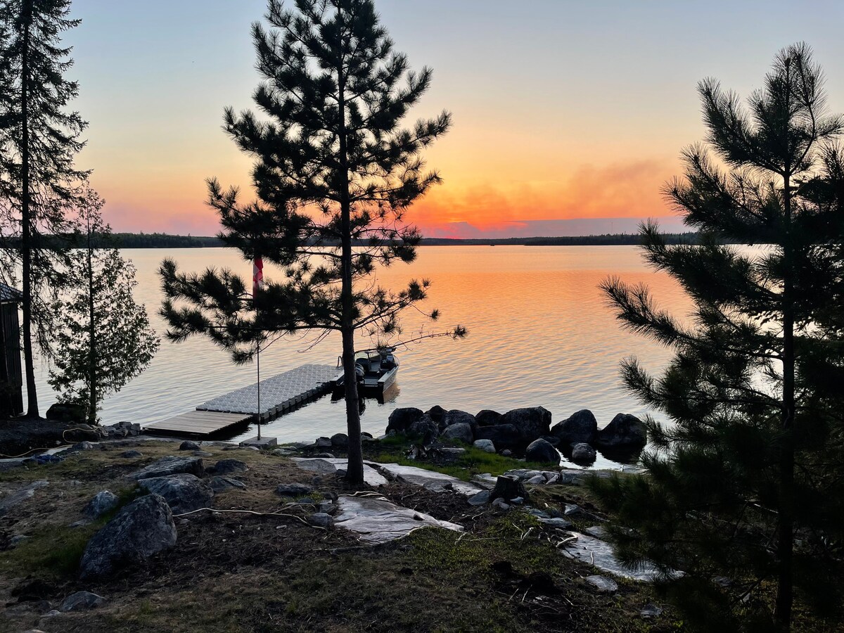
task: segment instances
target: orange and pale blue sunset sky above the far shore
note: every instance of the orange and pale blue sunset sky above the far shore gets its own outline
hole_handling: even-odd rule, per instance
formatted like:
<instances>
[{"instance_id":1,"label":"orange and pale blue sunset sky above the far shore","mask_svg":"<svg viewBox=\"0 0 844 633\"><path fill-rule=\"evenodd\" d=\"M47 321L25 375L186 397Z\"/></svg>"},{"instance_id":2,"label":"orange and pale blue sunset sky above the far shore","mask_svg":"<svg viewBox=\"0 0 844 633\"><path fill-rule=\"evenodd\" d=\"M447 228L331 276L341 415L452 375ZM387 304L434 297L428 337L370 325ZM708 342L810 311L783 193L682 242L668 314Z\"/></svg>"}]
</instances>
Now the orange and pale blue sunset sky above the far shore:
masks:
<instances>
[{"instance_id":1,"label":"orange and pale blue sunset sky above the far shore","mask_svg":"<svg viewBox=\"0 0 844 633\"><path fill-rule=\"evenodd\" d=\"M376 0L412 68L434 68L414 116L452 111L426 154L445 183L408 219L425 235L501 237L679 226L659 190L703 138L695 84L748 95L807 41L844 111L844 3ZM204 180L248 190L220 125L252 107L249 25L264 0L74 0L65 42L90 123L78 166L115 230L213 235ZM412 122L412 121L408 121ZM667 217L663 217L667 216Z\"/></svg>"}]
</instances>

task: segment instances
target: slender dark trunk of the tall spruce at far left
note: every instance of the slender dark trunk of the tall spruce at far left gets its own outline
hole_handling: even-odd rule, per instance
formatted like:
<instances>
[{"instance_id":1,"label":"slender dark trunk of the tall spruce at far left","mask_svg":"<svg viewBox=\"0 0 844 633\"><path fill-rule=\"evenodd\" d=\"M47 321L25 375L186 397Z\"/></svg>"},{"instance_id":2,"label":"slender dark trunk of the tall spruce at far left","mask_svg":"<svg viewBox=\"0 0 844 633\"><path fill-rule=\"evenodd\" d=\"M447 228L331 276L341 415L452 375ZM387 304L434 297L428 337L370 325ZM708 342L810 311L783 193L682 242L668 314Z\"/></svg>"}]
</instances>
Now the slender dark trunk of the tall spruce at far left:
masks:
<instances>
[{"instance_id":1,"label":"slender dark trunk of the tall spruce at far left","mask_svg":"<svg viewBox=\"0 0 844 633\"><path fill-rule=\"evenodd\" d=\"M37 418L38 393L35 391L35 362L32 356L32 235L31 235L31 192L30 192L30 25L32 23L32 0L24 0L21 8L24 36L20 62L20 118L21 118L21 196L20 196L20 254L22 259L23 298L21 308L24 315L24 371L26 374L26 417Z\"/></svg>"}]
</instances>

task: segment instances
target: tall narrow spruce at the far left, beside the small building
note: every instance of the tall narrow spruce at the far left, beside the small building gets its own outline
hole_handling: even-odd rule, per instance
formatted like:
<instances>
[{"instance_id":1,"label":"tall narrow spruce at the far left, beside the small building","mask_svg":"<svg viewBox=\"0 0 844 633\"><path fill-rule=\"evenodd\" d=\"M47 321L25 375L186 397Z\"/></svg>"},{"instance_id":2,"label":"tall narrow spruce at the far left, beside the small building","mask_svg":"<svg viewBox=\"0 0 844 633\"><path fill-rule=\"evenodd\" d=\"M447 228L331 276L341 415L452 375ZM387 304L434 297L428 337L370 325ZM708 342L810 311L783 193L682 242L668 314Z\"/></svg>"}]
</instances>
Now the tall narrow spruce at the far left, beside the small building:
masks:
<instances>
[{"instance_id":1,"label":"tall narrow spruce at the far left, beside the small building","mask_svg":"<svg viewBox=\"0 0 844 633\"><path fill-rule=\"evenodd\" d=\"M85 122L67 111L76 82L61 35L69 0L0 2L0 239L3 277L23 289L23 349L27 415L38 416L33 341L51 354L51 306L57 298L67 250L45 235L73 232L73 208L87 172L73 166L84 143ZM19 275L19 276L18 276Z\"/></svg>"}]
</instances>

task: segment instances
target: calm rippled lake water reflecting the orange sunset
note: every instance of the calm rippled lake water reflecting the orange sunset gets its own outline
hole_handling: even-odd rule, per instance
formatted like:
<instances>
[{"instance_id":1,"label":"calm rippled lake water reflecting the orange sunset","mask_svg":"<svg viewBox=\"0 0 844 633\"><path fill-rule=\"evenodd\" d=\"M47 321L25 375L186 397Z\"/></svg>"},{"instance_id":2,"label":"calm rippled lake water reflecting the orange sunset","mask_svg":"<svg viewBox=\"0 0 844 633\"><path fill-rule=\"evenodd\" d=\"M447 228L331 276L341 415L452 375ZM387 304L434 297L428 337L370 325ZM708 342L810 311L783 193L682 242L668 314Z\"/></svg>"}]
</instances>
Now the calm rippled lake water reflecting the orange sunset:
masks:
<instances>
[{"instance_id":1,"label":"calm rippled lake water reflecting the orange sunset","mask_svg":"<svg viewBox=\"0 0 844 633\"><path fill-rule=\"evenodd\" d=\"M398 288L412 278L433 281L425 310L441 311L441 327L457 323L469 329L463 340L437 338L398 349L398 388L379 404L368 400L361 423L374 436L384 432L397 407L435 404L475 414L482 408L505 412L542 405L559 422L581 408L592 409L598 426L619 412L643 416L647 411L619 381L619 360L638 357L652 371L670 358L668 350L627 333L605 304L598 283L617 275L633 284L646 283L657 303L685 314L690 302L679 286L641 262L635 246L425 246L411 265L379 273L379 283ZM163 334L156 270L173 257L187 271L229 267L246 279L249 262L227 249L126 250L138 269L136 299ZM273 277L271 268L265 276ZM403 338L436 331L408 312ZM163 338L163 337L162 337ZM263 378L306 363L337 362L338 337L313 345L316 335L280 340L261 355ZM370 346L361 336L357 347ZM203 338L171 344L163 340L152 365L122 392L106 400L102 419L149 423L184 413L209 398L245 387L255 380L255 366L235 366L225 352ZM41 410L55 401L41 368ZM344 404L329 397L264 425L280 441L312 441L345 430ZM253 436L249 430L244 436ZM608 465L598 458L596 466Z\"/></svg>"}]
</instances>

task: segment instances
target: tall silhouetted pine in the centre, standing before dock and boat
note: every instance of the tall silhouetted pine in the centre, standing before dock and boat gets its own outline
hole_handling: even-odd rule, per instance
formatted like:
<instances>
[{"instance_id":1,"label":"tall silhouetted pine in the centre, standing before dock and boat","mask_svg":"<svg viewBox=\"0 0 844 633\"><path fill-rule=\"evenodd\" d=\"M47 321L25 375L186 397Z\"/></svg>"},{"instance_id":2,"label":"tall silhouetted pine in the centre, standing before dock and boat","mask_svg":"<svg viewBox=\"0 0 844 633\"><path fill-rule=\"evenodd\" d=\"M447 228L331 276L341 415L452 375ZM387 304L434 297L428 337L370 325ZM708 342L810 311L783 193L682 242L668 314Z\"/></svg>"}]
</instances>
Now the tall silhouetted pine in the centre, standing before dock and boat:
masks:
<instances>
[{"instance_id":1,"label":"tall silhouetted pine in the centre, standing before dock and boat","mask_svg":"<svg viewBox=\"0 0 844 633\"><path fill-rule=\"evenodd\" d=\"M426 280L391 291L371 276L378 265L414 259L420 235L403 223L404 214L440 182L436 172L425 171L421 154L446 133L451 118L443 112L410 129L399 127L428 88L431 71L408 70L372 0L297 0L290 10L271 0L266 19L271 28L254 24L252 38L264 78L254 100L268 120L225 112L226 132L256 158L252 180L259 200L241 204L236 190L224 191L217 181L209 181L209 192L224 226L222 239L246 260L262 257L283 267L285 279L244 300L247 286L229 270L185 275L165 261L162 314L170 338L208 334L235 360L249 358L267 335L338 331L347 479L360 482L355 333L392 336L399 312L425 299ZM429 316L436 318L436 311Z\"/></svg>"}]
</instances>

